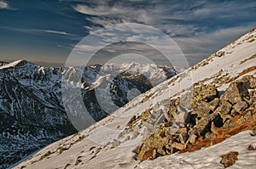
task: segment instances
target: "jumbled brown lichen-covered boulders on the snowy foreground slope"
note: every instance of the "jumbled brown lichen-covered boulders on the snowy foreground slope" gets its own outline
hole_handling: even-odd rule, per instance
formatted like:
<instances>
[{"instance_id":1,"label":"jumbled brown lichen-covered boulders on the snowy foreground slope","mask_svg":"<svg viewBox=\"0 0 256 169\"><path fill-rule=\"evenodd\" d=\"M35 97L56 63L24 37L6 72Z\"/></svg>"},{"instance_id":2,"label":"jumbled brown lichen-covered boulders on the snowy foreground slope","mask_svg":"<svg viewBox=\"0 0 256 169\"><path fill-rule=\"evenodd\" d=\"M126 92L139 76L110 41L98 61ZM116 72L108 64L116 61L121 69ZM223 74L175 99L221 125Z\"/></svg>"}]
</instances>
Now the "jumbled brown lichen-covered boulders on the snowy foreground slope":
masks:
<instances>
[{"instance_id":1,"label":"jumbled brown lichen-covered boulders on the snowy foreground slope","mask_svg":"<svg viewBox=\"0 0 256 169\"><path fill-rule=\"evenodd\" d=\"M138 119L144 121L143 124L149 122L156 129L137 149L137 160L145 161L171 155L187 149L188 145L195 144L198 140L211 139L216 136L218 128L236 127L243 121L251 120L256 115L255 80L254 76L244 76L241 80L232 82L221 96L216 87L201 85L193 88L192 99L183 99L187 96L167 99L159 106L169 109L158 114L155 114L154 109L145 111ZM190 101L190 104L181 103L181 100ZM177 121L177 116L182 112L185 112L183 121ZM161 116L164 119L155 123L152 116L154 119ZM173 127L177 129L173 130ZM224 157L225 166L236 161L232 157L230 162L229 158L231 157Z\"/></svg>"}]
</instances>

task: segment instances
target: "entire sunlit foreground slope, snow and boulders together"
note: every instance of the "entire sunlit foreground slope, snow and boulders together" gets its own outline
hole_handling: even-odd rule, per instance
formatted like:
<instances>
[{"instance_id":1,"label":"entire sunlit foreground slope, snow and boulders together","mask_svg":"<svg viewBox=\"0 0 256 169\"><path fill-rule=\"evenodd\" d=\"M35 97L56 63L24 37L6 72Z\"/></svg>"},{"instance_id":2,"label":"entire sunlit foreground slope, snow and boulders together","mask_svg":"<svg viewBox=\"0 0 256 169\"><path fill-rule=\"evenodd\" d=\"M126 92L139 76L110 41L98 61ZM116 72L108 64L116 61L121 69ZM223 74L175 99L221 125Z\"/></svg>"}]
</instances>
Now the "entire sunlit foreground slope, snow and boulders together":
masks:
<instances>
[{"instance_id":1,"label":"entire sunlit foreground slope, snow and boulders together","mask_svg":"<svg viewBox=\"0 0 256 169\"><path fill-rule=\"evenodd\" d=\"M15 168L254 168L255 39L254 29Z\"/></svg>"}]
</instances>

